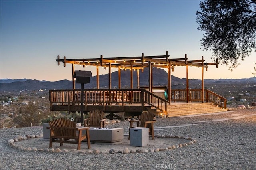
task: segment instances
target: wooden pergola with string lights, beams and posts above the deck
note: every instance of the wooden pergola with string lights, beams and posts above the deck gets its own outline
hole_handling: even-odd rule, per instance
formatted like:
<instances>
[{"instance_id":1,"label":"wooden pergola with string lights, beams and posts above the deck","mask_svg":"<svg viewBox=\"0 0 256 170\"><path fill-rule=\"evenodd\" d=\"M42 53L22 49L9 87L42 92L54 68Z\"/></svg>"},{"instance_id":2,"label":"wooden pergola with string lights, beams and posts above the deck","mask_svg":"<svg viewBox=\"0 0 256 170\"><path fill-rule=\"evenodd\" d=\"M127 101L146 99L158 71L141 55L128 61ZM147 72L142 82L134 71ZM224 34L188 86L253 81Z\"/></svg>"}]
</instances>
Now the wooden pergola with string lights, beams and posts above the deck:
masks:
<instances>
[{"instance_id":1,"label":"wooden pergola with string lights, beams and posts above the deck","mask_svg":"<svg viewBox=\"0 0 256 170\"><path fill-rule=\"evenodd\" d=\"M75 65L83 65L86 67L87 65L96 66L97 73L97 89L99 89L99 67L104 67L105 69L108 67L108 88L111 89L111 69L112 67L118 68L118 78L119 78L119 89L121 89L121 70L122 69L130 69L130 87L133 88L133 70L137 70L137 87L139 87L139 70L144 70L145 67L148 67L148 87L149 91L153 91L153 77L152 77L152 67L164 68L168 69L168 100L170 103L171 100L171 70L174 71L176 66L186 66L186 90L187 90L187 103L188 103L188 66L201 67L202 68L202 92L204 91L204 68L208 69L208 65L216 65L218 68L218 59L216 63L204 63L204 57L198 60L188 60L187 55L185 54L184 58L169 58L168 51L165 52L165 55L155 55L155 56L144 56L142 53L141 56L138 57L108 57L103 58L103 55L100 58L86 58L86 59L66 59L64 56L63 59L60 59L58 55L56 61L58 65L60 62L63 63L63 66L66 66L66 63L72 64L72 78L73 78L73 89L75 89L75 80L74 80L74 67ZM201 95L202 96L202 95ZM202 99L202 102L204 99Z\"/></svg>"}]
</instances>

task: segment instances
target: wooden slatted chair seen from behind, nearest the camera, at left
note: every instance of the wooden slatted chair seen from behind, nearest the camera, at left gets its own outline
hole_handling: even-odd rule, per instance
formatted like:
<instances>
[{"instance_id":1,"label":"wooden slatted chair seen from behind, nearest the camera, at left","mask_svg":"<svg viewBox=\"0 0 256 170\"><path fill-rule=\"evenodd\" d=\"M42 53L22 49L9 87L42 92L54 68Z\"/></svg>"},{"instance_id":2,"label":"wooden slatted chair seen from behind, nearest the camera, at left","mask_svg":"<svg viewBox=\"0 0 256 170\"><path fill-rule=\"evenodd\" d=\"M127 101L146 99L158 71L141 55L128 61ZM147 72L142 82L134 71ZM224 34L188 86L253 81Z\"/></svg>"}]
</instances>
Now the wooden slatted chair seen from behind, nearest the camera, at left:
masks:
<instances>
[{"instance_id":1,"label":"wooden slatted chair seen from behind, nearest the camera, at left","mask_svg":"<svg viewBox=\"0 0 256 170\"><path fill-rule=\"evenodd\" d=\"M57 142L57 143L60 143L60 146L63 146L63 143L77 144L77 150L80 150L81 141L84 139L87 139L88 149L91 148L88 127L77 128L75 122L72 122L64 118L50 121L49 126L50 126L48 127L50 129L49 148L52 147L53 142ZM86 134L83 135L82 134L83 131L85 131ZM74 139L74 140L70 140L70 139Z\"/></svg>"}]
</instances>

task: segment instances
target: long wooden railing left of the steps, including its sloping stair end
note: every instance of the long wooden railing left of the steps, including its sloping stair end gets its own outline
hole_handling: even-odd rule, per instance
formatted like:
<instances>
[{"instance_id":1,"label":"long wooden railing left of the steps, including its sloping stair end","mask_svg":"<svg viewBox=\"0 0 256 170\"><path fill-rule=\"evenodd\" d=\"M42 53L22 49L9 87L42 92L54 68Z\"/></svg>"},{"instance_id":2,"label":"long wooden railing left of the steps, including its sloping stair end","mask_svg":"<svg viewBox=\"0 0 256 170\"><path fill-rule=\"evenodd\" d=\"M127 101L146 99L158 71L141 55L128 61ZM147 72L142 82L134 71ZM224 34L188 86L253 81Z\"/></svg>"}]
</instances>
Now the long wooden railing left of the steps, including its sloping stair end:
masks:
<instances>
[{"instance_id":1,"label":"long wooden railing left of the steps, including its sloping stair end","mask_svg":"<svg viewBox=\"0 0 256 170\"><path fill-rule=\"evenodd\" d=\"M80 105L81 90L50 90L50 105ZM167 113L167 100L146 91L145 89L85 89L84 105L112 105L125 103L145 103Z\"/></svg>"}]
</instances>

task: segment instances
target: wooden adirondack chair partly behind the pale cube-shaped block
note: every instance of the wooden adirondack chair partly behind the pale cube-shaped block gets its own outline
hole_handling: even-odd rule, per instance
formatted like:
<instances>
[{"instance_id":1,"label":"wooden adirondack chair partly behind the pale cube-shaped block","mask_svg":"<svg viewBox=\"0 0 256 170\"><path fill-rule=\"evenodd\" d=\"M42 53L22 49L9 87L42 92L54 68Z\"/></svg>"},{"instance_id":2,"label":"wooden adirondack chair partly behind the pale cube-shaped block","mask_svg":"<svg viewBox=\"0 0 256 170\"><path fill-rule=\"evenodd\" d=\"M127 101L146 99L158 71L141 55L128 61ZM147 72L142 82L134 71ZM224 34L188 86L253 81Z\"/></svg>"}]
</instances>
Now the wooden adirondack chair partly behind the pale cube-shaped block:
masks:
<instances>
[{"instance_id":1,"label":"wooden adirondack chair partly behind the pale cube-shaped block","mask_svg":"<svg viewBox=\"0 0 256 170\"><path fill-rule=\"evenodd\" d=\"M152 112L142 111L139 120L131 120L129 122L130 122L130 128L133 128L133 123L135 123L135 122L137 123L137 127L148 128L148 134L151 135L152 140L154 139L153 123L155 123L156 120L154 120L154 114ZM130 140L130 130L129 130L128 140Z\"/></svg>"}]
</instances>

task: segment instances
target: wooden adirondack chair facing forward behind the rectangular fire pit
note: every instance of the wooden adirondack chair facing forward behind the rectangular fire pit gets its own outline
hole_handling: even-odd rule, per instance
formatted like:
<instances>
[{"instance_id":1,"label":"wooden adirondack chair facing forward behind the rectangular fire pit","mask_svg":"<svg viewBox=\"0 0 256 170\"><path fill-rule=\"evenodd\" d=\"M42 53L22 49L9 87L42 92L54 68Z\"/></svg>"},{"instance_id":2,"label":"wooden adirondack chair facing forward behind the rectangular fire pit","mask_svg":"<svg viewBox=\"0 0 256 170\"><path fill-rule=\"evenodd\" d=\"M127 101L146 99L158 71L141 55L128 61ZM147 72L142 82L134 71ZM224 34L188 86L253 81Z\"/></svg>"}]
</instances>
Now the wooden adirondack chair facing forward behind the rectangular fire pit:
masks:
<instances>
[{"instance_id":1,"label":"wooden adirondack chair facing forward behind the rectangular fire pit","mask_svg":"<svg viewBox=\"0 0 256 170\"><path fill-rule=\"evenodd\" d=\"M93 110L89 112L89 118L84 119L84 127L105 127L104 112L101 110ZM87 124L87 125L86 125Z\"/></svg>"}]
</instances>

